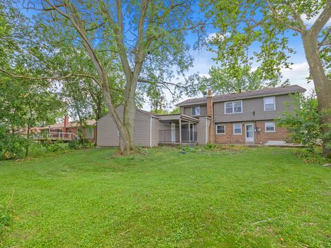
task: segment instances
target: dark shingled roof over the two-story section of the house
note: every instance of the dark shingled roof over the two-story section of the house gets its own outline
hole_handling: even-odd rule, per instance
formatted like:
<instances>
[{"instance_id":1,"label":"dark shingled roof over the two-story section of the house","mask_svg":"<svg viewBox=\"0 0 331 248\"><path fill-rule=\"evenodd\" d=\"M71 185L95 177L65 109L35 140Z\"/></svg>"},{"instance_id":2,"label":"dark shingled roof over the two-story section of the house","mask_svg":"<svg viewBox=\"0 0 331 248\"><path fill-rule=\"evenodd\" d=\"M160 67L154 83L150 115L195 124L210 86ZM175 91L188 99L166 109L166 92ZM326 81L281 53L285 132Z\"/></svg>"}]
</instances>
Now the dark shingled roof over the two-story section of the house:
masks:
<instances>
[{"instance_id":1,"label":"dark shingled roof over the two-story section of the house","mask_svg":"<svg viewBox=\"0 0 331 248\"><path fill-rule=\"evenodd\" d=\"M232 101L232 100L239 100L239 99L250 99L250 98L257 98L262 96L277 96L282 94L293 94L305 92L305 88L299 85L288 85L282 87L274 87L274 88L265 88L261 90L252 90L248 92L241 92L241 93L232 93L232 94L222 94L219 96L212 96L212 101L214 103L222 102L222 101ZM207 98L195 98L195 99L188 99L186 101L182 101L178 103L176 106L186 106L186 105L197 105L197 104L206 104Z\"/></svg>"}]
</instances>

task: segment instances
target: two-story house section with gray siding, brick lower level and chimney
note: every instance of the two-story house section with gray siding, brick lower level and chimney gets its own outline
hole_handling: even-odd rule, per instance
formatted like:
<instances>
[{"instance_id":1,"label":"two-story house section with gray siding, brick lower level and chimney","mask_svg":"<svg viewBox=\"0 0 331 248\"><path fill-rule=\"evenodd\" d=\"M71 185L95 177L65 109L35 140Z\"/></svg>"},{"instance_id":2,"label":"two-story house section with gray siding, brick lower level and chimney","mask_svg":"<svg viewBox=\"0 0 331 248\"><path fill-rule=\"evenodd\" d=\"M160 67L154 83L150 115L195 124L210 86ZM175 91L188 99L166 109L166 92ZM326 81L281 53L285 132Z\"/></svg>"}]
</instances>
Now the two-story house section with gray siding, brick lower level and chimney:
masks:
<instances>
[{"instance_id":1,"label":"two-story house section with gray siding, brick lower level and chimney","mask_svg":"<svg viewBox=\"0 0 331 248\"><path fill-rule=\"evenodd\" d=\"M277 127L275 119L296 107L291 97L305 92L299 85L275 87L250 92L188 99L179 103L181 113L189 116L210 118L210 143L255 143L284 141L288 132Z\"/></svg>"}]
</instances>

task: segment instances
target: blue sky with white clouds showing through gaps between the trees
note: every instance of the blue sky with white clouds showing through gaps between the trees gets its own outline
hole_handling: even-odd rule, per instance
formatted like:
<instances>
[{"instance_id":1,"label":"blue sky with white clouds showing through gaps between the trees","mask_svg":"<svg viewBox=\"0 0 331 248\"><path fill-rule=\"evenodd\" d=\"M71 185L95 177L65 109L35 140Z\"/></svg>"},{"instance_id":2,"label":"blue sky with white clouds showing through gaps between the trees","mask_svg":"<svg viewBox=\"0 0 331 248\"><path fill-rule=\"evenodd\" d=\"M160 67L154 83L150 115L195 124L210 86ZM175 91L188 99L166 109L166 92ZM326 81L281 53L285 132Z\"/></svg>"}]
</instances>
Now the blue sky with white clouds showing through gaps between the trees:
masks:
<instances>
[{"instance_id":1,"label":"blue sky with white clouds showing through gaps between the trees","mask_svg":"<svg viewBox=\"0 0 331 248\"><path fill-rule=\"evenodd\" d=\"M26 10L22 10L27 14L28 16L31 17L32 14L36 14L36 12L29 10L29 12L26 12ZM199 17L201 13L199 13L199 10L197 9L197 17ZM304 22L306 25L309 26L313 23L314 19L307 20L305 17L303 17ZM215 32L212 28L208 30L208 34L212 35ZM192 34L188 34L186 41L193 46L193 43L196 41L196 37ZM298 35L297 37L291 37L290 38L290 46L294 48L296 51L296 54L292 54L290 61L294 63L290 69L282 70L283 74L283 79L289 79L291 84L297 84L302 87L304 87L307 90L311 90L314 85L313 83L307 83L306 77L309 74L309 68L308 68L308 63L305 59L305 53L303 50L303 45L301 42L301 38ZM194 57L194 65L188 72L186 72L185 76L189 76L190 74L194 74L199 72L201 75L208 75L208 71L210 70L212 65L215 65L216 63L212 60L214 57L214 54L212 52L208 52L205 48L202 48L201 50L190 50L190 54ZM172 82L180 82L183 81L182 77L175 78L172 80ZM168 100L171 100L170 93L166 93ZM182 100L188 99L187 96L182 96ZM174 106L172 106L174 107ZM150 110L150 106L148 103L146 103L143 106L144 110Z\"/></svg>"}]
</instances>

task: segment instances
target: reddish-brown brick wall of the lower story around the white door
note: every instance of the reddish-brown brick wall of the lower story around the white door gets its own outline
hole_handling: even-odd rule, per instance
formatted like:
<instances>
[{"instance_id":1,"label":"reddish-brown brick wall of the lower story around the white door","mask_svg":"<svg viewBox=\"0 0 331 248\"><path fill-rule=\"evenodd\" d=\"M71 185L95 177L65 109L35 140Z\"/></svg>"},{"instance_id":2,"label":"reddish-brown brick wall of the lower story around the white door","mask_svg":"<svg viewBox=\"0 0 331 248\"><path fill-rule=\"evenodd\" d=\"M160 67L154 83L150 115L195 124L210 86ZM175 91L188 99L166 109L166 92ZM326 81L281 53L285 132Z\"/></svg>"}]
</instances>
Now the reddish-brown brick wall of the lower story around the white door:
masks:
<instances>
[{"instance_id":1,"label":"reddish-brown brick wall of the lower story around the white door","mask_svg":"<svg viewBox=\"0 0 331 248\"><path fill-rule=\"evenodd\" d=\"M272 120L270 120L272 121ZM255 144L264 144L267 141L288 141L288 131L284 127L277 127L276 132L265 132L264 123L270 121L247 121L241 122L242 134L233 134L234 123L219 123L225 125L225 134L216 134L214 125L215 143L219 144L245 144L245 123L252 123L254 127L260 128L260 132L254 132ZM239 124L239 123L235 123Z\"/></svg>"}]
</instances>

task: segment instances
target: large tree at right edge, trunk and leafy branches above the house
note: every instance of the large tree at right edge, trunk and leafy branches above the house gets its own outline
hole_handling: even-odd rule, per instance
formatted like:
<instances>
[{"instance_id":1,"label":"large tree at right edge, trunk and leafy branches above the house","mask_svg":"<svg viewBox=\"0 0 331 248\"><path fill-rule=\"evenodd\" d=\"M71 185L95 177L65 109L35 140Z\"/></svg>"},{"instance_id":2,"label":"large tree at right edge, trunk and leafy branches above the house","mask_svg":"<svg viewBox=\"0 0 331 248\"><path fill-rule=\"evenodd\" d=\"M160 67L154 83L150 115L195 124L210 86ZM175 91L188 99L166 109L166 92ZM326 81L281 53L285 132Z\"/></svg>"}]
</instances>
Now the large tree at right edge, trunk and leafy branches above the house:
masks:
<instances>
[{"instance_id":1,"label":"large tree at right edge, trunk and leafy branches above the house","mask_svg":"<svg viewBox=\"0 0 331 248\"><path fill-rule=\"evenodd\" d=\"M216 47L217 61L236 76L241 65L258 63L265 79L272 79L281 68L290 66L289 46L292 35L301 37L305 57L317 93L319 112L323 113L324 143L328 143L331 122L331 83L327 76L330 61L331 28L325 27L331 17L327 1L203 1L203 10L219 29L211 43ZM313 21L306 25L303 17ZM256 65L254 65L256 66ZM324 153L330 149L324 147Z\"/></svg>"}]
</instances>

